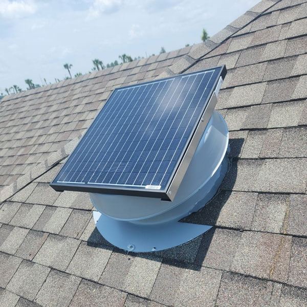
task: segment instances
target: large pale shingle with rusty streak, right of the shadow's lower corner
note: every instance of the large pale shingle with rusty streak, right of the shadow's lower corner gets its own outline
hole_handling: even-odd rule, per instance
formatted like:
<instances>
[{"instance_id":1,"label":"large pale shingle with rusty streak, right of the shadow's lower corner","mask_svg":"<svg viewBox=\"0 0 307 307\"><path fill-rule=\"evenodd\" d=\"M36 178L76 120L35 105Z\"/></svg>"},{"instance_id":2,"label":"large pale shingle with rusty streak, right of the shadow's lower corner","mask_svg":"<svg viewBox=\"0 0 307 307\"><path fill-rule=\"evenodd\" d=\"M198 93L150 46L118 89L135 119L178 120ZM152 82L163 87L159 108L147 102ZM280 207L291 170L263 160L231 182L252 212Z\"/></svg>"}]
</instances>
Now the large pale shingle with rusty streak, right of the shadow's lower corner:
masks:
<instances>
[{"instance_id":1,"label":"large pale shingle with rusty streak, right of the shadow's lower corner","mask_svg":"<svg viewBox=\"0 0 307 307\"><path fill-rule=\"evenodd\" d=\"M243 232L231 271L286 282L290 250L290 236Z\"/></svg>"}]
</instances>

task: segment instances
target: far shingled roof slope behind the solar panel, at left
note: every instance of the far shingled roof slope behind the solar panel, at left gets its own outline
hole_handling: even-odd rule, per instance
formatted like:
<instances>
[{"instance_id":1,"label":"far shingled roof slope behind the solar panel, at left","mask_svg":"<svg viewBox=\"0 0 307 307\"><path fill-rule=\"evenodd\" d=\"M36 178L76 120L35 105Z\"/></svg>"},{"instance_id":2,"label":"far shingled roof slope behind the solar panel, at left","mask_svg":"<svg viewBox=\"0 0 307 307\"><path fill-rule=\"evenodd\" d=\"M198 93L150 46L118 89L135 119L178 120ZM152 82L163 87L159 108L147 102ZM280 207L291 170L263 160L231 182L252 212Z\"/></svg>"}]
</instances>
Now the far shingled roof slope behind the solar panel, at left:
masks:
<instances>
[{"instance_id":1,"label":"far shingled roof slope behind the solar panel, at left","mask_svg":"<svg viewBox=\"0 0 307 307\"><path fill-rule=\"evenodd\" d=\"M80 135L115 87L155 78L190 49L5 96L0 103L0 189Z\"/></svg>"}]
</instances>

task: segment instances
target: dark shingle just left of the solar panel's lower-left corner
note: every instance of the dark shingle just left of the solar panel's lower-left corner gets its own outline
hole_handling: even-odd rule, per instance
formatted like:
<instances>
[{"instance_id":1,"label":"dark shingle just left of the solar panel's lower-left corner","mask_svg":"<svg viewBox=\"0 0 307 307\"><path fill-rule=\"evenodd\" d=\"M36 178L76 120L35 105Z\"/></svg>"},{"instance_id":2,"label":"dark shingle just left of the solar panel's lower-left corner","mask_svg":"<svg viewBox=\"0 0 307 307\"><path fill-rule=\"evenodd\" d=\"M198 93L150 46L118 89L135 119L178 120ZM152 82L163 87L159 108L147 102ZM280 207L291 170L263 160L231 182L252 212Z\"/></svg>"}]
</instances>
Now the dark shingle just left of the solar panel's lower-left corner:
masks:
<instances>
[{"instance_id":1,"label":"dark shingle just left of the solar panel's lower-left corner","mask_svg":"<svg viewBox=\"0 0 307 307\"><path fill-rule=\"evenodd\" d=\"M27 199L27 203L40 204L40 205L53 205L59 196L47 183L38 183L32 194Z\"/></svg>"}]
</instances>

